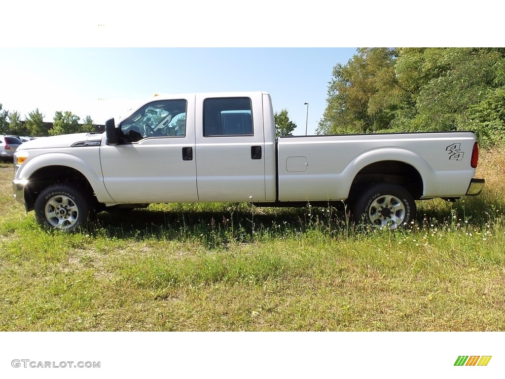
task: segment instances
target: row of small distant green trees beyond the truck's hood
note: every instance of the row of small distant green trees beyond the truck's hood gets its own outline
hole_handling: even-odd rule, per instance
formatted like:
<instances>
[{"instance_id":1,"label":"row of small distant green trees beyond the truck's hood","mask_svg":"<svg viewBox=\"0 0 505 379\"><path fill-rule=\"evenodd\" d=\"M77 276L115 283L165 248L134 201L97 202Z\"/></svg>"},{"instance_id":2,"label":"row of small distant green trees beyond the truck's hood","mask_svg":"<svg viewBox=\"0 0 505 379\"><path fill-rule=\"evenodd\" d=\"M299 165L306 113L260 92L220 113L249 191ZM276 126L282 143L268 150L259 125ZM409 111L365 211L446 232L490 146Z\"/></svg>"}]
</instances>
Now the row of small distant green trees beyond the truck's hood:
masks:
<instances>
[{"instance_id":1,"label":"row of small distant green trees beyond the truck's hood","mask_svg":"<svg viewBox=\"0 0 505 379\"><path fill-rule=\"evenodd\" d=\"M25 120L21 121L18 111L3 110L2 104L0 104L0 134L43 137L96 131L96 125L90 116L86 116L84 123L80 124L80 117L69 111L55 112L51 128L47 128L43 119L44 115L36 108L32 112L28 112L28 115L25 115Z\"/></svg>"}]
</instances>

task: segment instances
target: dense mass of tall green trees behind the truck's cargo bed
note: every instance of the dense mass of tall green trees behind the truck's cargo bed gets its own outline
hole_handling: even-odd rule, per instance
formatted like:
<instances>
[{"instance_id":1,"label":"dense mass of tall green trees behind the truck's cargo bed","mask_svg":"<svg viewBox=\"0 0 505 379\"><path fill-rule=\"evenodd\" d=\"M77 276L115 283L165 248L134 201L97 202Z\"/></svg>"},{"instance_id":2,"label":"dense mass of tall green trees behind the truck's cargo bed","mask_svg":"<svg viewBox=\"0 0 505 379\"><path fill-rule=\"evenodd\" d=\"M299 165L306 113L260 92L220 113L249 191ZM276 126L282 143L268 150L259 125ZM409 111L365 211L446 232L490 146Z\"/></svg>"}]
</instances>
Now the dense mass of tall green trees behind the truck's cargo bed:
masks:
<instances>
[{"instance_id":1,"label":"dense mass of tall green trees behind the truck's cargo bed","mask_svg":"<svg viewBox=\"0 0 505 379\"><path fill-rule=\"evenodd\" d=\"M360 48L333 68L318 134L474 130L505 139L504 48Z\"/></svg>"}]
</instances>

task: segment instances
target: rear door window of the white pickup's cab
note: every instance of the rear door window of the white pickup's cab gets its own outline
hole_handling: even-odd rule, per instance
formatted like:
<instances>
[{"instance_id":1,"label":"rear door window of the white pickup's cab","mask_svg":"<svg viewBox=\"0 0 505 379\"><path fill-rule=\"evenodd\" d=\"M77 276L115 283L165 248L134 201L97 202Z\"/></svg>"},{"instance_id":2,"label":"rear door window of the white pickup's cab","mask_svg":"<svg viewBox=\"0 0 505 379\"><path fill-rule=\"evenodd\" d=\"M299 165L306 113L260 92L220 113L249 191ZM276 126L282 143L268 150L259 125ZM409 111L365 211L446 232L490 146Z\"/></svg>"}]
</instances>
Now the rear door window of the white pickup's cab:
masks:
<instances>
[{"instance_id":1,"label":"rear door window of the white pickup's cab","mask_svg":"<svg viewBox=\"0 0 505 379\"><path fill-rule=\"evenodd\" d=\"M254 135L249 98L204 100L204 136Z\"/></svg>"}]
</instances>

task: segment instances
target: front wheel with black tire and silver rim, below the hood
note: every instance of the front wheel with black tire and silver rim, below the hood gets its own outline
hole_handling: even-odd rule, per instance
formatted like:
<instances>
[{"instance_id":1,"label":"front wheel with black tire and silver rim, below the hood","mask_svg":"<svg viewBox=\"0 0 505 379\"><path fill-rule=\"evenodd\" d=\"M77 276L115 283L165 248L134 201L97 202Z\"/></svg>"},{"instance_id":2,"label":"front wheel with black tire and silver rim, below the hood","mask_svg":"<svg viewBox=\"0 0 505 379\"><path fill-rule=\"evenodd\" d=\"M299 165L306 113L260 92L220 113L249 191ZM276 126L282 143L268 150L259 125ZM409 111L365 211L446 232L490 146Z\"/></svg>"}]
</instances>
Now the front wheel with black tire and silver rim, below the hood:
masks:
<instances>
[{"instance_id":1,"label":"front wheel with black tire and silver rim, below the hood","mask_svg":"<svg viewBox=\"0 0 505 379\"><path fill-rule=\"evenodd\" d=\"M72 232L86 226L92 211L90 204L71 184L51 185L35 201L35 218L45 229Z\"/></svg>"}]
</instances>

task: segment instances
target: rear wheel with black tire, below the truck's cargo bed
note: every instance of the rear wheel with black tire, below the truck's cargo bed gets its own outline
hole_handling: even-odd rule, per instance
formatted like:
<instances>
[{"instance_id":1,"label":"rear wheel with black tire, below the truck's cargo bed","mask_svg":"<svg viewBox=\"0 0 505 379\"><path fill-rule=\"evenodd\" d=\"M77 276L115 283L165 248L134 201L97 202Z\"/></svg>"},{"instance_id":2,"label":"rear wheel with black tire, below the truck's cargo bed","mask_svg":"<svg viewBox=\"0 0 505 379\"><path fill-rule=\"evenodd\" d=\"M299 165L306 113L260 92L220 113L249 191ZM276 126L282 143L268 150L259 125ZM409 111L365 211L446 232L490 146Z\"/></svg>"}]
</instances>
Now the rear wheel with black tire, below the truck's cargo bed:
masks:
<instances>
[{"instance_id":1,"label":"rear wheel with black tire, below the truck's cargo bed","mask_svg":"<svg viewBox=\"0 0 505 379\"><path fill-rule=\"evenodd\" d=\"M352 207L355 222L396 229L416 218L416 202L398 184L379 183L366 188Z\"/></svg>"}]
</instances>

